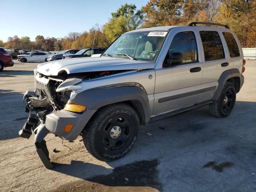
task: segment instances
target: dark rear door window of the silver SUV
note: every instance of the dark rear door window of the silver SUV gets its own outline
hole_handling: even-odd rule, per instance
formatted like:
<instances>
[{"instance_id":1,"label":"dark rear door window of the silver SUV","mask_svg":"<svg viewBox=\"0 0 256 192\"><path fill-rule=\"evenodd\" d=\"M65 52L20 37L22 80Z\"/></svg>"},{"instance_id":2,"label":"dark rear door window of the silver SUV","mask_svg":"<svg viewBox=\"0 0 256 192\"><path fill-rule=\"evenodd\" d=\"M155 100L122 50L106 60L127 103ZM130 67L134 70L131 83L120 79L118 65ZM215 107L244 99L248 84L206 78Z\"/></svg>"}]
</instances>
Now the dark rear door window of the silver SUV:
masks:
<instances>
[{"instance_id":1,"label":"dark rear door window of the silver SUV","mask_svg":"<svg viewBox=\"0 0 256 192\"><path fill-rule=\"evenodd\" d=\"M224 50L220 36L216 31L200 31L200 37L204 48L204 60L223 59Z\"/></svg>"}]
</instances>

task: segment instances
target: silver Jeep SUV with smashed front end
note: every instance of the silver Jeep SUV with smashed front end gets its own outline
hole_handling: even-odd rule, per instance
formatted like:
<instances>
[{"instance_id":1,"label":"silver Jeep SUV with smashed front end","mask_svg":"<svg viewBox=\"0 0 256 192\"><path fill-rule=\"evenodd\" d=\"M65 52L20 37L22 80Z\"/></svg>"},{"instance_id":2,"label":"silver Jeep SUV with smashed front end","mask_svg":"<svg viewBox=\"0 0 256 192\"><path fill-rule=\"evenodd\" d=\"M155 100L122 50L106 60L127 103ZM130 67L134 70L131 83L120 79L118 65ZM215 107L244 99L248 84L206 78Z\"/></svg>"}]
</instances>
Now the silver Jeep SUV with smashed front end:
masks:
<instances>
[{"instance_id":1,"label":"silver Jeep SUV with smashed front end","mask_svg":"<svg viewBox=\"0 0 256 192\"><path fill-rule=\"evenodd\" d=\"M154 116L205 105L213 116L228 116L244 83L244 64L228 26L193 22L130 31L99 58L39 64L36 88L24 95L29 118L19 134L34 135L46 168L53 167L44 140L48 133L64 140L82 135L95 158L115 160Z\"/></svg>"}]
</instances>

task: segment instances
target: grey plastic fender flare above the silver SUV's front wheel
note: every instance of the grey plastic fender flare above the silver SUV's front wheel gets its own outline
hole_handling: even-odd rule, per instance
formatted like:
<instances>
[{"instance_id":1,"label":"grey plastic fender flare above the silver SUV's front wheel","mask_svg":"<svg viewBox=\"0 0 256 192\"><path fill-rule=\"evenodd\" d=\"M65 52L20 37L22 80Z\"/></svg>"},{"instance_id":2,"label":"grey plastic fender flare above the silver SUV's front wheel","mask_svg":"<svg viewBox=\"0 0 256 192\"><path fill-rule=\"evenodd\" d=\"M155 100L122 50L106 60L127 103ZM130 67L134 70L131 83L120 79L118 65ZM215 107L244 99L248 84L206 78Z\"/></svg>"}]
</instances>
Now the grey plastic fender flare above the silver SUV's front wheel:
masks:
<instances>
[{"instance_id":1,"label":"grey plastic fender flare above the silver SUV's front wheel","mask_svg":"<svg viewBox=\"0 0 256 192\"><path fill-rule=\"evenodd\" d=\"M118 102L132 102L140 117L140 123L146 125L150 120L148 95L139 86L113 86L86 90L78 94L72 102L86 106L90 110Z\"/></svg>"}]
</instances>

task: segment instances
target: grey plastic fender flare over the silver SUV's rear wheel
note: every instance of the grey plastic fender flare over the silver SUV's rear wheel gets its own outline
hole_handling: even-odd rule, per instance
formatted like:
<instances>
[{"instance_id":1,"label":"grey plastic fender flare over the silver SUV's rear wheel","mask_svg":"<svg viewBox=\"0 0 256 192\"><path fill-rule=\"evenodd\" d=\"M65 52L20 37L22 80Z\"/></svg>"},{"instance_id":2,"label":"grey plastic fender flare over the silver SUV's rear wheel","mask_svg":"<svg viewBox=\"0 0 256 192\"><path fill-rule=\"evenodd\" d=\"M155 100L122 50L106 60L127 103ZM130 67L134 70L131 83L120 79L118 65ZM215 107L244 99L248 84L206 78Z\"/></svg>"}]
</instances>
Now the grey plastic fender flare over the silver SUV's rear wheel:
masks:
<instances>
[{"instance_id":1,"label":"grey plastic fender flare over the silver SUV's rear wheel","mask_svg":"<svg viewBox=\"0 0 256 192\"><path fill-rule=\"evenodd\" d=\"M239 86L238 91L240 90L240 88L242 87L242 84L244 82L244 78L242 77L238 68L226 70L220 75L220 78L218 80L219 86L218 86L214 96L212 97L212 100L218 100L218 98L220 97L220 94L224 88L225 83L227 82L228 79L230 79L232 77L238 77L240 79L240 84L238 85Z\"/></svg>"}]
</instances>

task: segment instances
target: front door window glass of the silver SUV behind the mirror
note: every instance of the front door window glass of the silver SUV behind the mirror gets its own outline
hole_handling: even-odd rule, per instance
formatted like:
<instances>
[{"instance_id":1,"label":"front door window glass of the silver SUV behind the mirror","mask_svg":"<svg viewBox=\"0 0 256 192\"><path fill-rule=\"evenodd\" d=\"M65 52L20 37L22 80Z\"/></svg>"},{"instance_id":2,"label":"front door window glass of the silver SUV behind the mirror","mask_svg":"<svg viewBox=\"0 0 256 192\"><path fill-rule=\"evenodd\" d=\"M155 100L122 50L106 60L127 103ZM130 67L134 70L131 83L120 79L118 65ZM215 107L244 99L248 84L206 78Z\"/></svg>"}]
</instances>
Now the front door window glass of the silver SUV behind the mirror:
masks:
<instances>
[{"instance_id":1,"label":"front door window glass of the silver SUV behind the mirror","mask_svg":"<svg viewBox=\"0 0 256 192\"><path fill-rule=\"evenodd\" d=\"M182 64L198 61L196 39L192 31L180 32L174 36L169 48L169 58L173 53L182 54Z\"/></svg>"}]
</instances>

